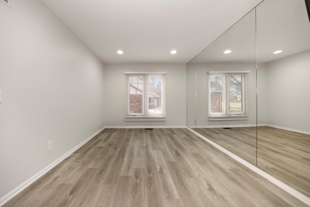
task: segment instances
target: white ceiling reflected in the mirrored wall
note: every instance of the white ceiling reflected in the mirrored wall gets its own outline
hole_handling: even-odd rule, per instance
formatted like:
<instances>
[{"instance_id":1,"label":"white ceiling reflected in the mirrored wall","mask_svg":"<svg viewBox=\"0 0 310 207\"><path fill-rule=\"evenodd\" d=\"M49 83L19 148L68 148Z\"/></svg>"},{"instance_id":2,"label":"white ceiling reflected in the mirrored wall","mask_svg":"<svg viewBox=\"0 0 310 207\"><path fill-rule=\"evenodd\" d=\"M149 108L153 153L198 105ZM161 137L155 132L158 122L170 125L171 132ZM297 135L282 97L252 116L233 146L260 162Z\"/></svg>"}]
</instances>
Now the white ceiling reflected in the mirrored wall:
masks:
<instances>
[{"instance_id":1,"label":"white ceiling reflected in the mirrored wall","mask_svg":"<svg viewBox=\"0 0 310 207\"><path fill-rule=\"evenodd\" d=\"M191 63L268 63L309 50L309 37L304 0L264 0ZM226 49L233 52L224 54Z\"/></svg>"}]
</instances>

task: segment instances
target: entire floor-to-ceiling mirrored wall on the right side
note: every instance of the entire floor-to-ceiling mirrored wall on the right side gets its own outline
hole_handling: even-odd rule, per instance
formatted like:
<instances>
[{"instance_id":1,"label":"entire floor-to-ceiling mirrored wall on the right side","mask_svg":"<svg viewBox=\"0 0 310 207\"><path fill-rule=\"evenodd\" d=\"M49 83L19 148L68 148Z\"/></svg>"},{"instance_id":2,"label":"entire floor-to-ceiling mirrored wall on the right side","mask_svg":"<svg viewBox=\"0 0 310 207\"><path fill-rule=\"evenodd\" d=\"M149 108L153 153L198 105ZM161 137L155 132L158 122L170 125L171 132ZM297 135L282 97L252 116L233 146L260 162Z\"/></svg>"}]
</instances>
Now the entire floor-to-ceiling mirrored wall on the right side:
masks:
<instances>
[{"instance_id":1,"label":"entire floor-to-ceiling mirrored wall on the right side","mask_svg":"<svg viewBox=\"0 0 310 207\"><path fill-rule=\"evenodd\" d=\"M187 64L187 126L310 195L304 0L264 0Z\"/></svg>"}]
</instances>

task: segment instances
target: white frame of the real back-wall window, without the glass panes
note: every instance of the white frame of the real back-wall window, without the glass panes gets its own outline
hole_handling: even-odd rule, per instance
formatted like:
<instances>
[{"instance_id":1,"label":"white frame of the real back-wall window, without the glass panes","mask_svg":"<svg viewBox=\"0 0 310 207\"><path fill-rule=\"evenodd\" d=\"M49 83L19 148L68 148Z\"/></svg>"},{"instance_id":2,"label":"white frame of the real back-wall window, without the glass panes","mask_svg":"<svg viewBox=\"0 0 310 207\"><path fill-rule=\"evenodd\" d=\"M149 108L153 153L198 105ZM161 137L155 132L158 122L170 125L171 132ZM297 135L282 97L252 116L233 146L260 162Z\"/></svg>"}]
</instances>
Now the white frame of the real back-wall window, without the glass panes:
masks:
<instances>
[{"instance_id":1,"label":"white frame of the real back-wall window, without the glass panes","mask_svg":"<svg viewBox=\"0 0 310 207\"><path fill-rule=\"evenodd\" d=\"M125 72L125 121L166 121L166 72ZM143 87L142 90L142 111L140 113L134 113L130 111L129 105L129 91L132 89L129 83L129 77L142 78ZM163 84L161 86L160 106L161 109L156 110L150 109L149 95L150 95L150 84L149 78L151 77L162 77ZM155 100L154 100L155 103ZM158 104L156 100L156 104Z\"/></svg>"}]
</instances>

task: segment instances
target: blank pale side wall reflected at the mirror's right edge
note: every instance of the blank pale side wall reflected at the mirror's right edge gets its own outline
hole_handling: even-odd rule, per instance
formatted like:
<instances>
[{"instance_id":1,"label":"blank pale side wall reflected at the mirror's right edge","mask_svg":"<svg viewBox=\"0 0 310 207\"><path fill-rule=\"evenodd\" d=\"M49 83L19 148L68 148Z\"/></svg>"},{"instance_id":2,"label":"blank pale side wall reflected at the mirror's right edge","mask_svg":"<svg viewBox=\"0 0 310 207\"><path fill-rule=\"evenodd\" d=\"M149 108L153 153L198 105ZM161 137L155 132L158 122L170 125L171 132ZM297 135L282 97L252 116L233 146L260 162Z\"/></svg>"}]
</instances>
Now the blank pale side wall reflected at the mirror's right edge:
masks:
<instances>
[{"instance_id":1,"label":"blank pale side wall reflected at the mirror's right edge","mask_svg":"<svg viewBox=\"0 0 310 207\"><path fill-rule=\"evenodd\" d=\"M310 132L310 50L266 64L266 124Z\"/></svg>"}]
</instances>

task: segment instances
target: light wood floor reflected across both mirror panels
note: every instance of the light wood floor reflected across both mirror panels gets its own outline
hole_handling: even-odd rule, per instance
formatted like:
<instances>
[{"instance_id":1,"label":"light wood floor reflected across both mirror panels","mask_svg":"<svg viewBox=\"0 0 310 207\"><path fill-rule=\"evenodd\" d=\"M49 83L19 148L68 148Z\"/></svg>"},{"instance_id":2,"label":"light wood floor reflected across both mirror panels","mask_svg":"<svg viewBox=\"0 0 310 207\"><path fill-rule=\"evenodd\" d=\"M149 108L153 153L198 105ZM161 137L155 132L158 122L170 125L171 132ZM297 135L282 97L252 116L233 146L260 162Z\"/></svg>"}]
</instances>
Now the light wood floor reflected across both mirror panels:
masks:
<instances>
[{"instance_id":1,"label":"light wood floor reflected across both mirror panels","mask_svg":"<svg viewBox=\"0 0 310 207\"><path fill-rule=\"evenodd\" d=\"M195 130L256 164L256 127ZM257 136L257 166L310 195L310 135L274 127L258 127Z\"/></svg>"}]
</instances>

